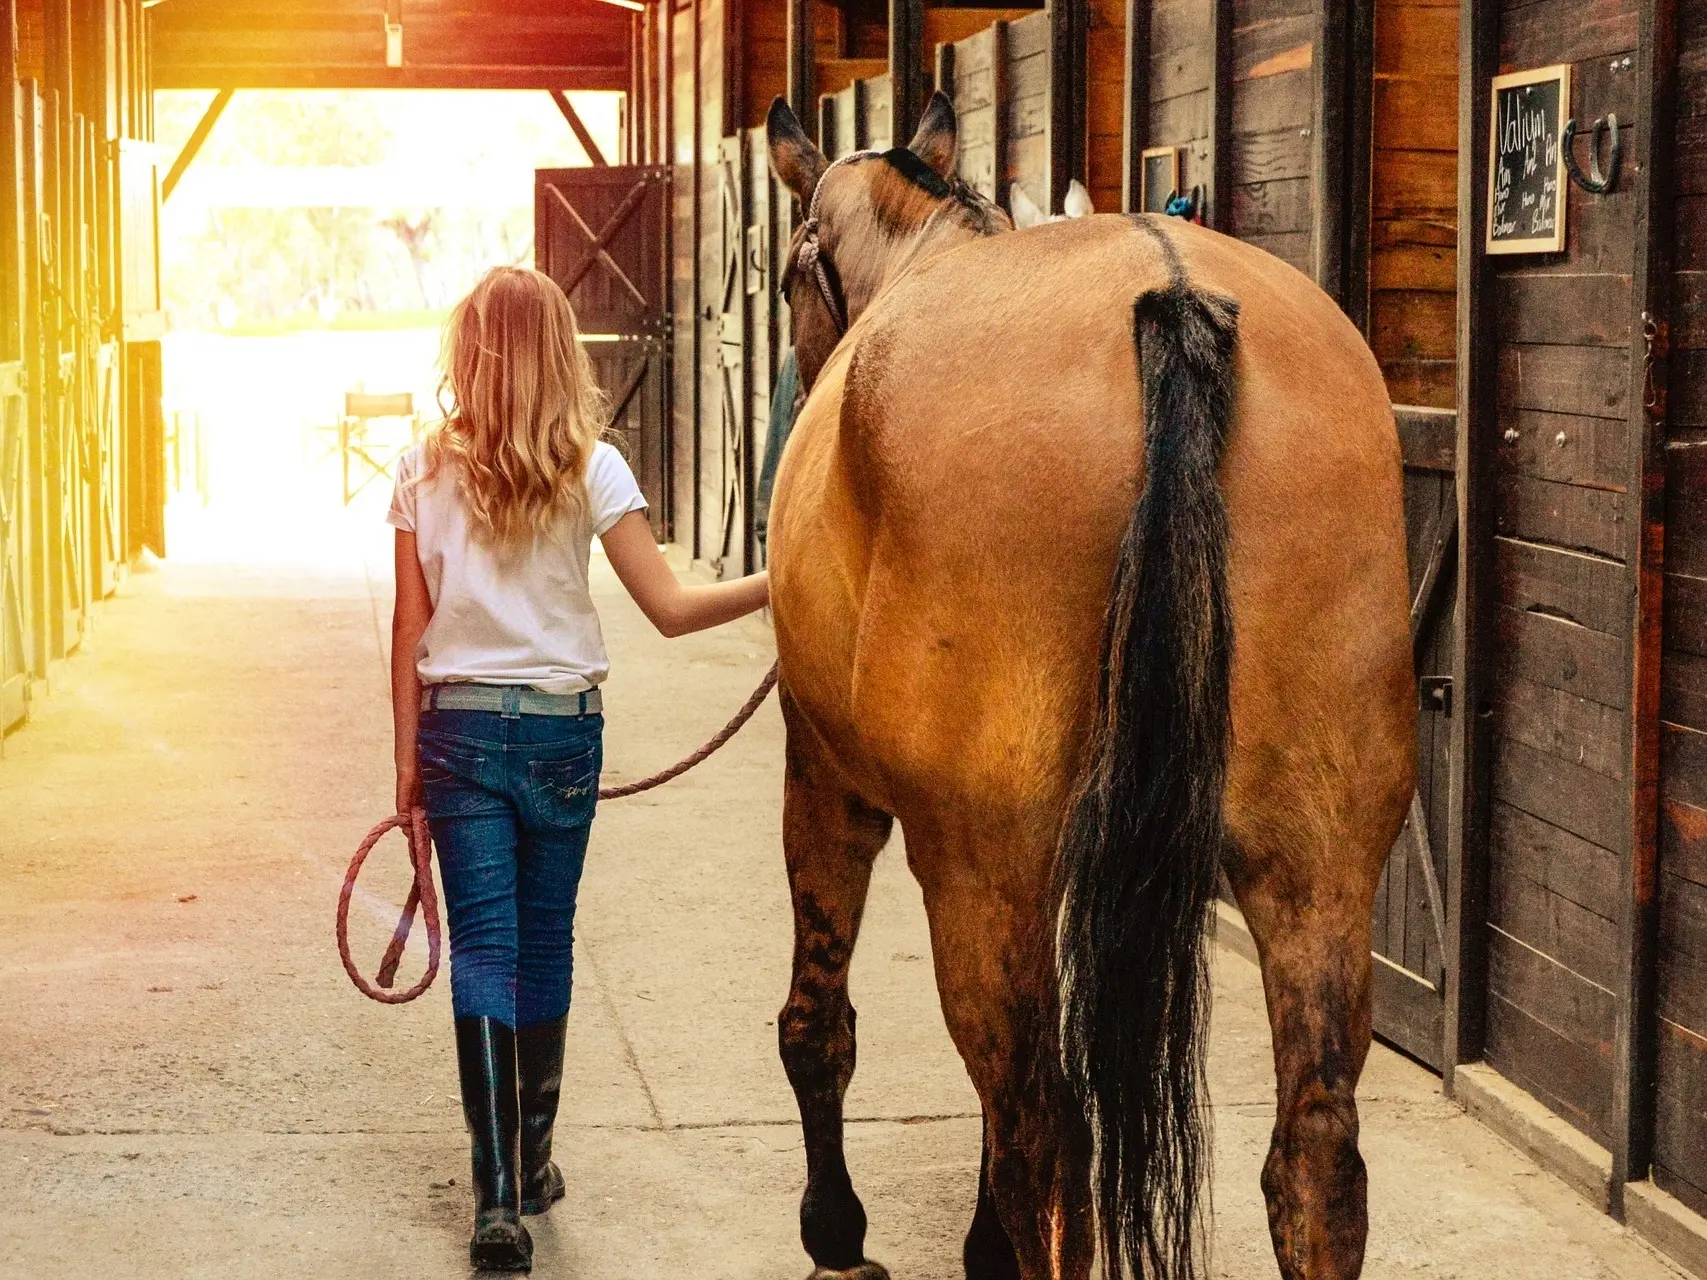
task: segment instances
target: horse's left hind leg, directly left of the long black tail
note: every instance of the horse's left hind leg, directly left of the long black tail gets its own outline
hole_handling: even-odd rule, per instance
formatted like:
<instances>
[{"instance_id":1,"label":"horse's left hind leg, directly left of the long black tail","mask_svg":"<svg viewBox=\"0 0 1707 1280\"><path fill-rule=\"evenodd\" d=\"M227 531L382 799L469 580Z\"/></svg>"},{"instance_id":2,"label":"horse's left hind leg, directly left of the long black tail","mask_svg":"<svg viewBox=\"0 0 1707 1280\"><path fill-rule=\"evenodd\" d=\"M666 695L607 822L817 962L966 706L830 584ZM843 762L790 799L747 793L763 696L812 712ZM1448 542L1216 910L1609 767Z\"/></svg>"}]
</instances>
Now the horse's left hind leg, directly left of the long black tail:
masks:
<instances>
[{"instance_id":1,"label":"horse's left hind leg, directly left of the long black tail","mask_svg":"<svg viewBox=\"0 0 1707 1280\"><path fill-rule=\"evenodd\" d=\"M966 1278L1082 1280L1092 1246L1089 1135L1065 1101L1055 985L1040 947L1048 937L1040 915L1048 858L1007 843L956 840L961 848L947 850L908 835L942 1015L983 1103ZM1002 887L1004 876L1022 867L1036 876Z\"/></svg>"}]
</instances>

